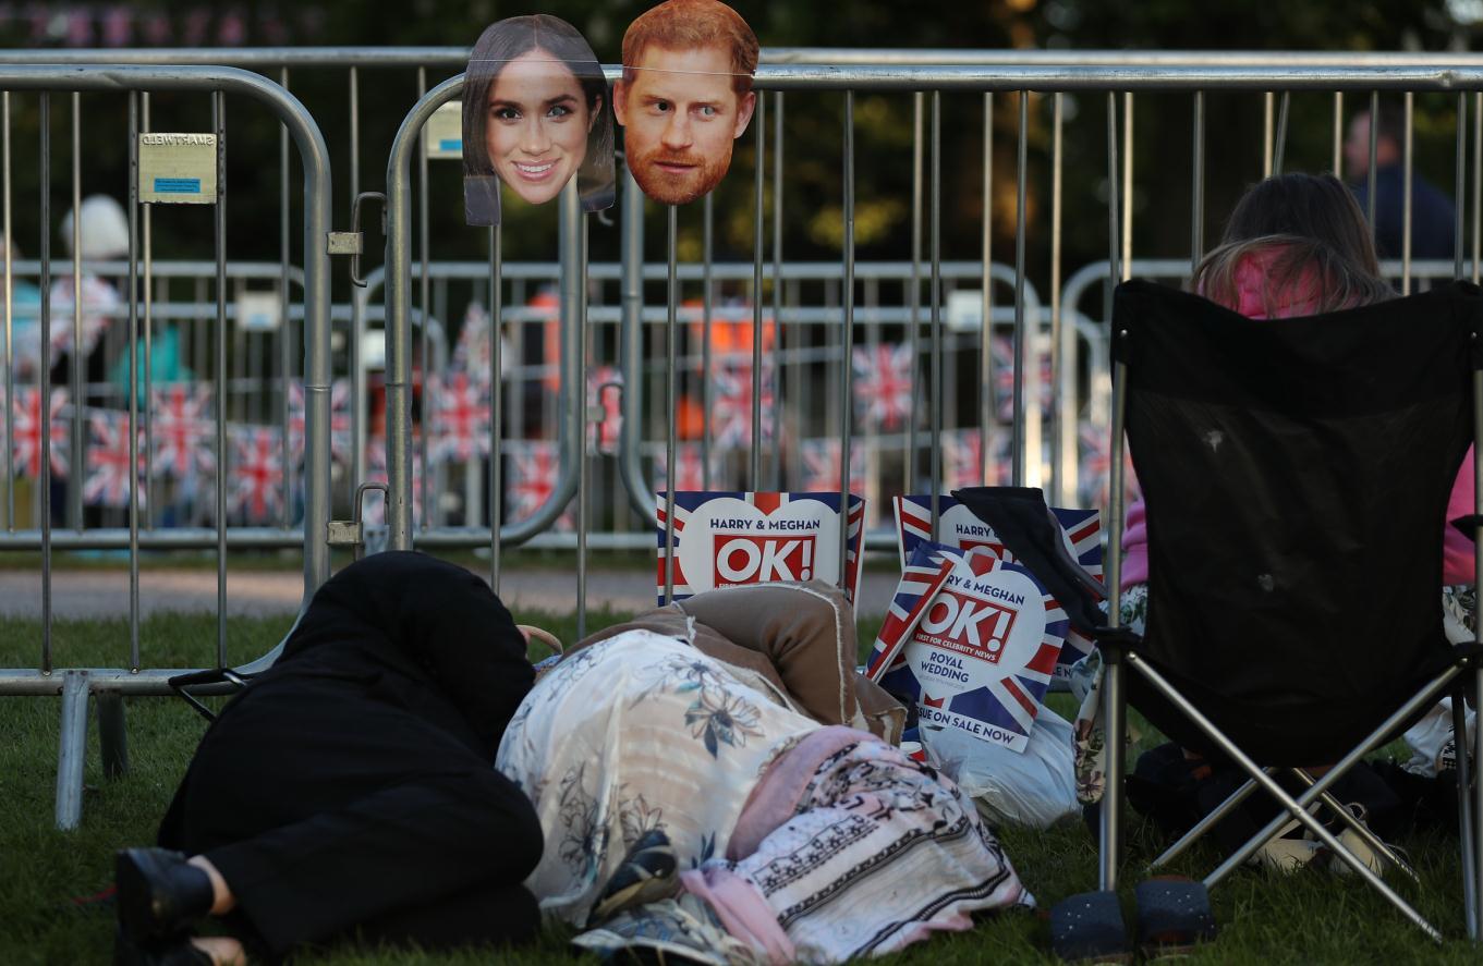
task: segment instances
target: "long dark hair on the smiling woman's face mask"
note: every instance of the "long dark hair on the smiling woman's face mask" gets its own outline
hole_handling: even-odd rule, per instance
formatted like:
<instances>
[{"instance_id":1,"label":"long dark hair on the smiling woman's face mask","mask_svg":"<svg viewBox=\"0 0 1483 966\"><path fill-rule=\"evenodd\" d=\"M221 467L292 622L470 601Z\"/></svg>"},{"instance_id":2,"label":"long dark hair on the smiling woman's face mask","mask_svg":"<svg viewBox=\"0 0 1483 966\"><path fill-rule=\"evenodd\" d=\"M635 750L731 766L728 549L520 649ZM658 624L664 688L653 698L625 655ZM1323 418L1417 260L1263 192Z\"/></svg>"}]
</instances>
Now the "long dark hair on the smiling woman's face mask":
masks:
<instances>
[{"instance_id":1,"label":"long dark hair on the smiling woman's face mask","mask_svg":"<svg viewBox=\"0 0 1483 966\"><path fill-rule=\"evenodd\" d=\"M469 71L463 90L463 156L464 175L494 175L485 127L489 123L489 87L504 65L518 56L541 50L572 73L581 86L587 111L595 119L587 132L587 154L577 169L577 194L584 210L612 204L612 101L608 81L587 40L567 21L547 13L512 16L491 24L479 34L479 43L469 56Z\"/></svg>"}]
</instances>

